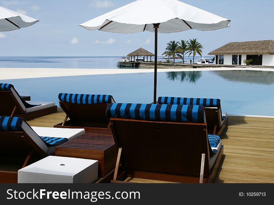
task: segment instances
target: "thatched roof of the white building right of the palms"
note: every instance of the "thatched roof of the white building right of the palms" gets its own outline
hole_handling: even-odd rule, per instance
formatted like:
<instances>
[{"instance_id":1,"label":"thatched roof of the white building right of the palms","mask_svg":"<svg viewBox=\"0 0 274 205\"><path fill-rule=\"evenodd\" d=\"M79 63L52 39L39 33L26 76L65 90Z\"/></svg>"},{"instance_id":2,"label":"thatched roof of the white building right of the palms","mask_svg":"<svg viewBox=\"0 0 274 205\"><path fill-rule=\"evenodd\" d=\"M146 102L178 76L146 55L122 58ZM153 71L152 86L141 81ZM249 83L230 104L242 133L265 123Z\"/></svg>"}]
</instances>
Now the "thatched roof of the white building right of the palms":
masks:
<instances>
[{"instance_id":1,"label":"thatched roof of the white building right of the palms","mask_svg":"<svg viewBox=\"0 0 274 205\"><path fill-rule=\"evenodd\" d=\"M274 54L274 41L231 42L208 53L208 55Z\"/></svg>"}]
</instances>

